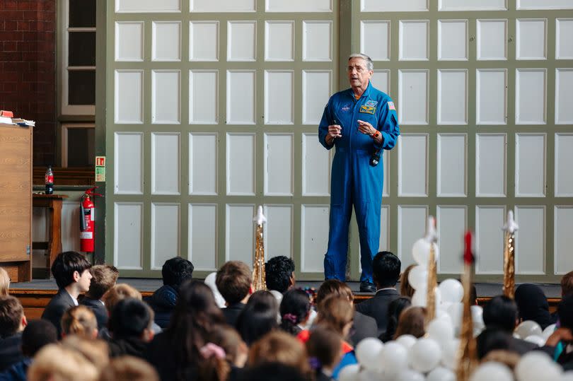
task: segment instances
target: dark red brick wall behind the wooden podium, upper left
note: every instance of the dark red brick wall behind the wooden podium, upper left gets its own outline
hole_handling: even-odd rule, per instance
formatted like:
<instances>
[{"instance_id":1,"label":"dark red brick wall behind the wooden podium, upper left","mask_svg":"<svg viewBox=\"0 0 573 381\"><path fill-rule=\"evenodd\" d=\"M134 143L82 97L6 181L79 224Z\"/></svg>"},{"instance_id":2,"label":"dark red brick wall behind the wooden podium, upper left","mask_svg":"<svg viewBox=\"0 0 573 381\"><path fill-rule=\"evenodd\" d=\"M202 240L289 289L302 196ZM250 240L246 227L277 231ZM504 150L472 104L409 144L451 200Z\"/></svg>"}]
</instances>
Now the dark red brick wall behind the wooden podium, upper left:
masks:
<instances>
[{"instance_id":1,"label":"dark red brick wall behind the wooden podium, upper left","mask_svg":"<svg viewBox=\"0 0 573 381\"><path fill-rule=\"evenodd\" d=\"M0 0L0 109L36 121L34 165L56 149L56 0Z\"/></svg>"}]
</instances>

